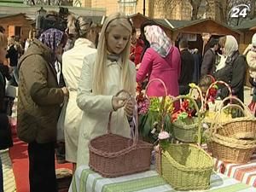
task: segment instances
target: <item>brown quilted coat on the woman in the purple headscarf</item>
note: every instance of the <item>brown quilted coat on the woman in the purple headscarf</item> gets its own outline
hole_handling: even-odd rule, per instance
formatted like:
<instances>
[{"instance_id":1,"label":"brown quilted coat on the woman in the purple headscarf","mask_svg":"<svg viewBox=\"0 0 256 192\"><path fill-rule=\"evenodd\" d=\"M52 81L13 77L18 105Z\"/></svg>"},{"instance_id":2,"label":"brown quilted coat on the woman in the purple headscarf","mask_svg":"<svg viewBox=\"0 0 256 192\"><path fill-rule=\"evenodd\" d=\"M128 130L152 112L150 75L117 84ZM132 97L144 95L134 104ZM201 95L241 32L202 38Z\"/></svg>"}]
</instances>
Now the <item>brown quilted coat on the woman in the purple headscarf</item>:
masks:
<instances>
[{"instance_id":1,"label":"brown quilted coat on the woman in the purple headscarf","mask_svg":"<svg viewBox=\"0 0 256 192\"><path fill-rule=\"evenodd\" d=\"M56 139L64 95L49 61L50 49L35 39L18 64L17 133L26 143L49 143Z\"/></svg>"}]
</instances>

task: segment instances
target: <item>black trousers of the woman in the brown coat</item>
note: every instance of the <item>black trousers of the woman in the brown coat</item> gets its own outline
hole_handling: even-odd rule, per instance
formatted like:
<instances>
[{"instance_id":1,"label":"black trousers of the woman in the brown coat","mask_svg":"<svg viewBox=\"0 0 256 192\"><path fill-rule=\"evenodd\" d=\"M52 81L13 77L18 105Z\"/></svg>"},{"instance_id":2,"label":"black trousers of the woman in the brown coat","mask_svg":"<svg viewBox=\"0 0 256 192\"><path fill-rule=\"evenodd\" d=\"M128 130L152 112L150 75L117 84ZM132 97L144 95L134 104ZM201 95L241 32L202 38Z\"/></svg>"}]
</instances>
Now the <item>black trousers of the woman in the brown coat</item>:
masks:
<instances>
[{"instance_id":1,"label":"black trousers of the woman in the brown coat","mask_svg":"<svg viewBox=\"0 0 256 192\"><path fill-rule=\"evenodd\" d=\"M55 143L29 143L30 192L57 192Z\"/></svg>"}]
</instances>

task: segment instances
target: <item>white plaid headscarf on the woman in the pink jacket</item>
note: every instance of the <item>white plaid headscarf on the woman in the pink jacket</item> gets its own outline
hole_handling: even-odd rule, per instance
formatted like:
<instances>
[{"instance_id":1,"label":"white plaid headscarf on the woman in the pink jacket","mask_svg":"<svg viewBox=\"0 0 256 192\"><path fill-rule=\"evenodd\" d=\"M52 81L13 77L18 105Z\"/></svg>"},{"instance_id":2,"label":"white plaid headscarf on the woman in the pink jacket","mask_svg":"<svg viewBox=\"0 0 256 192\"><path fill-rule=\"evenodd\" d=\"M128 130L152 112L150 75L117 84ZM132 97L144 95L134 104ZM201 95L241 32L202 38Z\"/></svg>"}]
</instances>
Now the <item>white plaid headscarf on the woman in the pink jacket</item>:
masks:
<instances>
[{"instance_id":1,"label":"white plaid headscarf on the woman in the pink jacket","mask_svg":"<svg viewBox=\"0 0 256 192\"><path fill-rule=\"evenodd\" d=\"M144 32L150 47L162 57L166 57L172 48L171 40L166 36L166 32L160 26L145 26Z\"/></svg>"}]
</instances>

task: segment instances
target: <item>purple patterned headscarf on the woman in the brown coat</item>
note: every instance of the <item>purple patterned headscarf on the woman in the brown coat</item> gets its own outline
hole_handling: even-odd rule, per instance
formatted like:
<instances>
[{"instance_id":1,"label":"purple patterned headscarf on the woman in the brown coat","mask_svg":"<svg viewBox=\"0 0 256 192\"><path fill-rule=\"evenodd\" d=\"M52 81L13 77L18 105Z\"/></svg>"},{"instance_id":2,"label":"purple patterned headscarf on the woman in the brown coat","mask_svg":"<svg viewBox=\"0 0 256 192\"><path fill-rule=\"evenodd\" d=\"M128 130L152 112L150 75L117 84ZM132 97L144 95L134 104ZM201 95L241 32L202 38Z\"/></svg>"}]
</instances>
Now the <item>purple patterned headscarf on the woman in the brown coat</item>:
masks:
<instances>
[{"instance_id":1,"label":"purple patterned headscarf on the woman in the brown coat","mask_svg":"<svg viewBox=\"0 0 256 192\"><path fill-rule=\"evenodd\" d=\"M42 32L39 41L46 44L49 49L55 53L55 49L61 44L61 39L63 37L64 32L61 32L55 28L49 28L48 30Z\"/></svg>"}]
</instances>

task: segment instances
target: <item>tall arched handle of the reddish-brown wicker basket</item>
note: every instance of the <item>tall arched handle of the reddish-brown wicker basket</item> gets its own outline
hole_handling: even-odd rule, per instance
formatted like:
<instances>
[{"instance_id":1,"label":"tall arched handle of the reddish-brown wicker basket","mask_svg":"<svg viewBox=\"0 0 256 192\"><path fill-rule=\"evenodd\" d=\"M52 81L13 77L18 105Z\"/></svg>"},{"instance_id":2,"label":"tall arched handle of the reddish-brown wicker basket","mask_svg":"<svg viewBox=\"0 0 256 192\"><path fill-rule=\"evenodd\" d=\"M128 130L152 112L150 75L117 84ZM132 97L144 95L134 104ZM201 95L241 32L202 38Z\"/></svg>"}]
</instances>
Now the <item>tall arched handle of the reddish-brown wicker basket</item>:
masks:
<instances>
[{"instance_id":1,"label":"tall arched handle of the reddish-brown wicker basket","mask_svg":"<svg viewBox=\"0 0 256 192\"><path fill-rule=\"evenodd\" d=\"M126 93L129 98L129 99L132 99L132 96L131 94L127 91L127 90L119 90L119 92L115 95L115 96L119 96L121 93ZM113 112L110 112L109 113L109 116L108 116L108 134L112 133L111 131L111 119L112 119L112 113ZM133 120L133 123L134 123L134 131L131 131L132 133L132 137L133 137L133 145L136 145L137 144L137 141L138 141L138 117L137 117L137 108L134 108L133 110L133 113L135 114L134 117L132 118Z\"/></svg>"}]
</instances>

